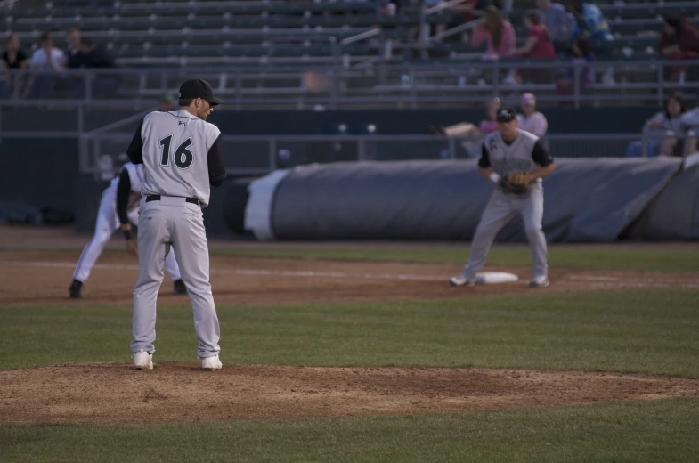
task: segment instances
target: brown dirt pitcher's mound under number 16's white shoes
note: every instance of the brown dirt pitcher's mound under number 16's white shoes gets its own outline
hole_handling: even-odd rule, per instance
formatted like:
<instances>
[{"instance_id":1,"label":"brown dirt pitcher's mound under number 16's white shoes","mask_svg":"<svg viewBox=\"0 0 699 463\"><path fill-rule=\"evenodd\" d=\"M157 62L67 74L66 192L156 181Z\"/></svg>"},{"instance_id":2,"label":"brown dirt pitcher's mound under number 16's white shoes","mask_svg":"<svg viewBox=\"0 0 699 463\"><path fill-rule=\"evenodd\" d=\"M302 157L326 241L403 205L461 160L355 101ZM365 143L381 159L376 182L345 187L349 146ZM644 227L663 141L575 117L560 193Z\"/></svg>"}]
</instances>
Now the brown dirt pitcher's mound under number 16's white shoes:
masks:
<instances>
[{"instance_id":1,"label":"brown dirt pitcher's mound under number 16's white shoes","mask_svg":"<svg viewBox=\"0 0 699 463\"><path fill-rule=\"evenodd\" d=\"M0 371L2 423L164 423L545 407L699 396L699 380L571 371L156 362Z\"/></svg>"}]
</instances>

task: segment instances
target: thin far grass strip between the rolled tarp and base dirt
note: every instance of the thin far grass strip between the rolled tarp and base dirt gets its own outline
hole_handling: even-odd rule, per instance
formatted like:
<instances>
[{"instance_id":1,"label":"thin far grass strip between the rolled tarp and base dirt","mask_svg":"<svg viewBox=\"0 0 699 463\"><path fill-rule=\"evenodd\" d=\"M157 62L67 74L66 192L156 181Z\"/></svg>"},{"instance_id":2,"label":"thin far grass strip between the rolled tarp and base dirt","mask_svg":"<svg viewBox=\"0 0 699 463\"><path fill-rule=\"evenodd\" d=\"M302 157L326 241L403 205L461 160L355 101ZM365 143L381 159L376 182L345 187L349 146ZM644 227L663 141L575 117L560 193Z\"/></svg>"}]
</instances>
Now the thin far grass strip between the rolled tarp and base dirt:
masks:
<instances>
[{"instance_id":1,"label":"thin far grass strip between the rolled tarp and base dirt","mask_svg":"<svg viewBox=\"0 0 699 463\"><path fill-rule=\"evenodd\" d=\"M213 256L275 257L309 260L410 262L422 264L464 264L468 246L463 247L249 247L211 248ZM527 266L532 254L526 247L491 249L487 264ZM697 247L556 247L549 248L549 265L585 270L628 270L646 272L699 272Z\"/></svg>"}]
</instances>

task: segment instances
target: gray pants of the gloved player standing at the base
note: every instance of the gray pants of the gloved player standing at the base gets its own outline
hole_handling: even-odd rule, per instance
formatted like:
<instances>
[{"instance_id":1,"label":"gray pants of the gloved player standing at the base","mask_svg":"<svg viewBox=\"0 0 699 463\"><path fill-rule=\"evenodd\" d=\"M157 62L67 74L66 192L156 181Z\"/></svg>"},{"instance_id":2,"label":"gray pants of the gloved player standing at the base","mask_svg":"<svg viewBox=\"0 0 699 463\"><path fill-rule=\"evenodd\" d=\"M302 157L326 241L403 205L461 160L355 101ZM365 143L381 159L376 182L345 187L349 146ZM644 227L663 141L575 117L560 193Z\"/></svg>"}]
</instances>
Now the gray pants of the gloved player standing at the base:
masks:
<instances>
[{"instance_id":1,"label":"gray pants of the gloved player standing at the base","mask_svg":"<svg viewBox=\"0 0 699 463\"><path fill-rule=\"evenodd\" d=\"M464 277L475 278L475 274L485 263L492 241L516 214L522 216L524 231L532 248L534 277L548 276L546 236L541 227L544 216L544 190L541 183L534 183L524 195L505 193L500 188L493 191L471 241L468 263L461 272Z\"/></svg>"}]
</instances>

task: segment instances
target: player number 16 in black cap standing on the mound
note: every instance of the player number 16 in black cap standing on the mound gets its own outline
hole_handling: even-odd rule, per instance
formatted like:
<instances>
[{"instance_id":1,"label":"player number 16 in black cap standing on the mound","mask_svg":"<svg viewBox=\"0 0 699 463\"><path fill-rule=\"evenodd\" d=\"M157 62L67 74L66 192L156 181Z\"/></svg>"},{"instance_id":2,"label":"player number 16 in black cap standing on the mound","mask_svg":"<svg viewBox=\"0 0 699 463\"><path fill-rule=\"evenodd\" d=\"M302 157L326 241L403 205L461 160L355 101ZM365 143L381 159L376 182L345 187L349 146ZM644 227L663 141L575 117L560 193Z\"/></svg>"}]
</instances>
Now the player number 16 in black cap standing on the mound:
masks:
<instances>
[{"instance_id":1,"label":"player number 16 in black cap standing on the mound","mask_svg":"<svg viewBox=\"0 0 699 463\"><path fill-rule=\"evenodd\" d=\"M179 110L151 112L134 134L126 154L143 165L138 231L138 282L134 288L134 368L153 368L156 298L163 261L171 247L180 263L194 311L203 370L219 370L220 331L208 279L207 233L201 209L209 183L224 183L221 131L207 122L215 98L207 81L191 79L180 87Z\"/></svg>"}]
</instances>

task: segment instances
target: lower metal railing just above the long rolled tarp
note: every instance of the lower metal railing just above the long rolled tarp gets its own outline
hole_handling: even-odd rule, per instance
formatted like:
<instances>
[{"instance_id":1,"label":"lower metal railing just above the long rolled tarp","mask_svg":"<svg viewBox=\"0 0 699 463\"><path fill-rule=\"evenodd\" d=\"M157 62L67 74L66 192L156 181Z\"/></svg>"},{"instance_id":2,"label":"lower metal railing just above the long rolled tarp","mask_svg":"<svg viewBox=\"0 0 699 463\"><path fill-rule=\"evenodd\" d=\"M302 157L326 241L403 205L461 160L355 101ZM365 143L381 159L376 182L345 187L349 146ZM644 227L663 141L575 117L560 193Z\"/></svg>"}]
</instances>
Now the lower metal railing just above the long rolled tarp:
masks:
<instances>
[{"instance_id":1,"label":"lower metal railing just above the long rolled tarp","mask_svg":"<svg viewBox=\"0 0 699 463\"><path fill-rule=\"evenodd\" d=\"M132 137L129 133L104 131L82 137L81 145L87 147L89 161L81 164L81 173L110 178L113 172L109 169L125 161L123 153ZM483 137L225 135L223 140L224 151L229 153L229 175L265 175L277 168L316 162L475 159L480 156ZM646 156L648 143L654 140L641 134L550 134L544 142L554 158L625 158ZM633 144L638 145L637 150L630 149Z\"/></svg>"}]
</instances>

